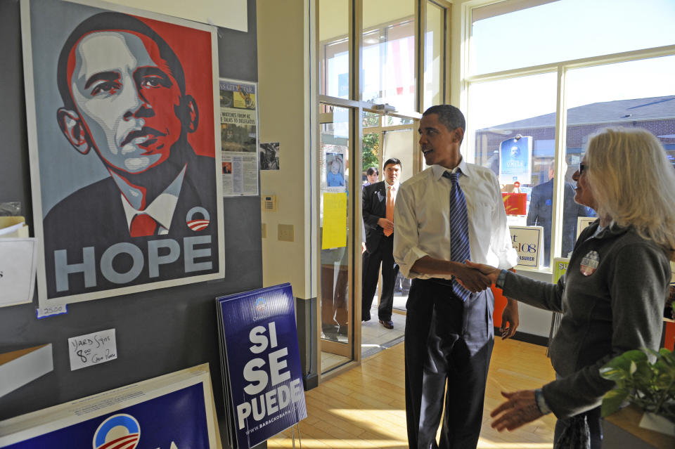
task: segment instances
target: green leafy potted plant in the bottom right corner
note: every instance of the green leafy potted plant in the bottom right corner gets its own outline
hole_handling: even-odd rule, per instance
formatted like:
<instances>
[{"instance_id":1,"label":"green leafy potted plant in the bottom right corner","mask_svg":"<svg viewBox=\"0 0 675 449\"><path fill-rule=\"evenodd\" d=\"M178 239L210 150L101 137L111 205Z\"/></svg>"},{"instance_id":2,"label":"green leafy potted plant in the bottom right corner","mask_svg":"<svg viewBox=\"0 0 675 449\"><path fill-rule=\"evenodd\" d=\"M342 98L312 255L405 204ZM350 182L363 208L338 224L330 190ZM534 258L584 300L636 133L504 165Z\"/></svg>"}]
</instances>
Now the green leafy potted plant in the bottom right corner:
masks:
<instances>
[{"instance_id":1,"label":"green leafy potted plant in the bottom right corner","mask_svg":"<svg viewBox=\"0 0 675 449\"><path fill-rule=\"evenodd\" d=\"M655 356L653 363L648 353ZM628 402L645 412L643 421L662 422L664 433L675 432L675 353L665 348L626 351L600 368L600 375L617 383L603 398L603 417Z\"/></svg>"}]
</instances>

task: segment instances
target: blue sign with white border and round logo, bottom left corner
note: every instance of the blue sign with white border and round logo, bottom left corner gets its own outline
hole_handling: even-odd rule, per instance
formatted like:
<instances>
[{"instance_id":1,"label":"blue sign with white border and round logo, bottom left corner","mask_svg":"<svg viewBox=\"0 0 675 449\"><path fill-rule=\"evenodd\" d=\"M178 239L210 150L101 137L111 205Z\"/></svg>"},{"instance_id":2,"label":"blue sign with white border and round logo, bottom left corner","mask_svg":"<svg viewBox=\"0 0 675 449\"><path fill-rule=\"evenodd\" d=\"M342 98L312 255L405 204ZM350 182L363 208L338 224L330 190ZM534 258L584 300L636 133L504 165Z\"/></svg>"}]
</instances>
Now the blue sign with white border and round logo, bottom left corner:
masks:
<instances>
[{"instance_id":1,"label":"blue sign with white border and round logo, bottom left corner","mask_svg":"<svg viewBox=\"0 0 675 449\"><path fill-rule=\"evenodd\" d=\"M209 365L0 422L7 449L219 448Z\"/></svg>"}]
</instances>

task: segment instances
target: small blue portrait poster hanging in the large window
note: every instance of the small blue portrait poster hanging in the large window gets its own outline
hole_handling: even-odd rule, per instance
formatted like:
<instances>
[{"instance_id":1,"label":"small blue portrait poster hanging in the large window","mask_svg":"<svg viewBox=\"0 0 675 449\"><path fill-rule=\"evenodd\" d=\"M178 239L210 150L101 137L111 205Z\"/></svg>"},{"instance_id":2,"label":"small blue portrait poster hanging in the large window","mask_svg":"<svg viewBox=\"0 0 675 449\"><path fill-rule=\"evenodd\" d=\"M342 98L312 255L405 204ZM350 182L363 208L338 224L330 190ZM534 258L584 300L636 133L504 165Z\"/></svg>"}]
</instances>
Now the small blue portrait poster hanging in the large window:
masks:
<instances>
[{"instance_id":1,"label":"small blue portrait poster hanging in the large window","mask_svg":"<svg viewBox=\"0 0 675 449\"><path fill-rule=\"evenodd\" d=\"M532 183L532 137L515 136L499 144L499 183Z\"/></svg>"}]
</instances>

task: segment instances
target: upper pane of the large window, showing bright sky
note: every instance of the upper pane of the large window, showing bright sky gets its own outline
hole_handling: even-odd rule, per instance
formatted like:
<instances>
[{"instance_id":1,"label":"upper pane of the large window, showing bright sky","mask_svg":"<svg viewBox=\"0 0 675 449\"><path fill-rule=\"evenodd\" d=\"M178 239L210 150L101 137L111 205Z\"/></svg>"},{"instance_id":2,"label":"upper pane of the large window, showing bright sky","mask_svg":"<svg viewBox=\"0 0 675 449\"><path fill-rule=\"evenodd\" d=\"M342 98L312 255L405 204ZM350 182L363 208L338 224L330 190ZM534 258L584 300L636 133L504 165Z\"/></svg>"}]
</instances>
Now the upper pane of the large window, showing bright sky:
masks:
<instances>
[{"instance_id":1,"label":"upper pane of the large window, showing bright sky","mask_svg":"<svg viewBox=\"0 0 675 449\"><path fill-rule=\"evenodd\" d=\"M470 73L672 45L674 19L672 0L515 0L473 8Z\"/></svg>"}]
</instances>

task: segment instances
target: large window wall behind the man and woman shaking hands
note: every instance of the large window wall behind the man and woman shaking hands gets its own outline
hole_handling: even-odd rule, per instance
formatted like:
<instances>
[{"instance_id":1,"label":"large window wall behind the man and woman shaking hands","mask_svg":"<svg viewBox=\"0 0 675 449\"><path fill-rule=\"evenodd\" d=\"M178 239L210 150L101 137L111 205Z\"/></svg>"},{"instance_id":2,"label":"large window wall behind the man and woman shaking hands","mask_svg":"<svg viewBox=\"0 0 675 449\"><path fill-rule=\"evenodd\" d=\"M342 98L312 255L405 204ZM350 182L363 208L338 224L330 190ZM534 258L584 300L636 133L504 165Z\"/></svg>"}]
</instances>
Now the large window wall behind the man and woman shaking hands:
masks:
<instances>
[{"instance_id":1,"label":"large window wall behind the man and woman shaking hands","mask_svg":"<svg viewBox=\"0 0 675 449\"><path fill-rule=\"evenodd\" d=\"M572 251L577 218L595 214L573 201L572 174L589 136L642 127L675 162L675 33L665 27L675 3L510 0L471 12L466 157L490 167L504 194L524 195L525 209L507 204L508 219L544 228L543 268ZM553 189L563 203L560 235Z\"/></svg>"}]
</instances>

